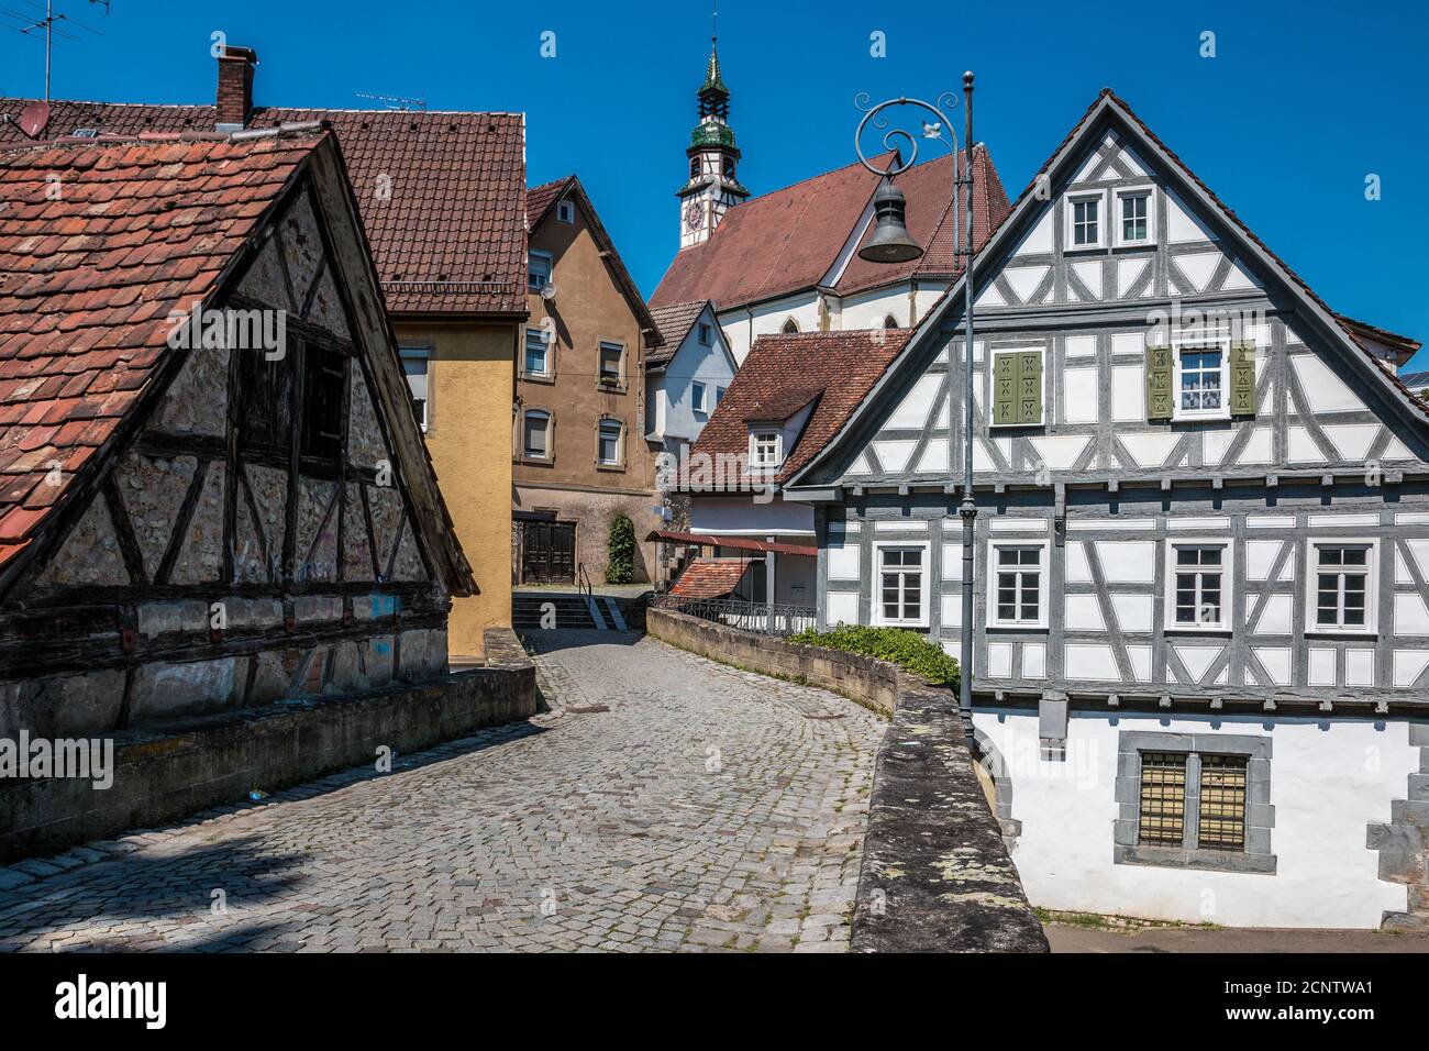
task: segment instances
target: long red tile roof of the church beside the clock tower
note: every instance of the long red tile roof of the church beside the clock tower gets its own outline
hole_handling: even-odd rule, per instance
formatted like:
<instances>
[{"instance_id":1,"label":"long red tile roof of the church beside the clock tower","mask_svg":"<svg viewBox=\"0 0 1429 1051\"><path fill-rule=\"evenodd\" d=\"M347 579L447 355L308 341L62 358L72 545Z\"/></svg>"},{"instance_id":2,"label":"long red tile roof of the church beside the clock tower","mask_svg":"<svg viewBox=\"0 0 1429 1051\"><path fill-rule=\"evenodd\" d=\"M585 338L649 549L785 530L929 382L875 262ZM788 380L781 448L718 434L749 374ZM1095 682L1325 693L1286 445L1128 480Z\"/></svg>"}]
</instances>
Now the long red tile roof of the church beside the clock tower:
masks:
<instances>
[{"instance_id":1,"label":"long red tile roof of the church beside the clock tower","mask_svg":"<svg viewBox=\"0 0 1429 1051\"><path fill-rule=\"evenodd\" d=\"M886 166L892 156L883 154L876 163ZM982 245L1009 204L987 147L973 147L973 160L975 226ZM953 257L952 164L952 156L939 157L897 179L907 196L909 232L925 246L923 257L887 266L855 255L837 280L840 293L915 276L946 279L960 269ZM713 237L674 256L650 303L662 307L713 299L727 310L815 287L857 230L877 183L877 176L855 163L732 207Z\"/></svg>"}]
</instances>

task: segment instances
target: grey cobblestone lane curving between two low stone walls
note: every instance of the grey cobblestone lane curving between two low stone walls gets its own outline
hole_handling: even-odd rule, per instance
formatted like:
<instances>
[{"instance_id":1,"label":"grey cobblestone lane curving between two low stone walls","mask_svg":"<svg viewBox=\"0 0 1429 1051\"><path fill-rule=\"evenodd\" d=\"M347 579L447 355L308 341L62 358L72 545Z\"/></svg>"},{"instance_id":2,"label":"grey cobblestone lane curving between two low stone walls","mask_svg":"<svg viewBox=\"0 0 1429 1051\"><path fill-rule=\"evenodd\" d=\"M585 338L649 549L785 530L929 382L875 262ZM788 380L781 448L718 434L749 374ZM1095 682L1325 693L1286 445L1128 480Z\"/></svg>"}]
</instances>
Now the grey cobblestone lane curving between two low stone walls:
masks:
<instances>
[{"instance_id":1,"label":"grey cobblestone lane curving between two low stone walls","mask_svg":"<svg viewBox=\"0 0 1429 1051\"><path fill-rule=\"evenodd\" d=\"M0 949L845 949L885 724L539 635L549 712L71 852L0 889Z\"/></svg>"}]
</instances>

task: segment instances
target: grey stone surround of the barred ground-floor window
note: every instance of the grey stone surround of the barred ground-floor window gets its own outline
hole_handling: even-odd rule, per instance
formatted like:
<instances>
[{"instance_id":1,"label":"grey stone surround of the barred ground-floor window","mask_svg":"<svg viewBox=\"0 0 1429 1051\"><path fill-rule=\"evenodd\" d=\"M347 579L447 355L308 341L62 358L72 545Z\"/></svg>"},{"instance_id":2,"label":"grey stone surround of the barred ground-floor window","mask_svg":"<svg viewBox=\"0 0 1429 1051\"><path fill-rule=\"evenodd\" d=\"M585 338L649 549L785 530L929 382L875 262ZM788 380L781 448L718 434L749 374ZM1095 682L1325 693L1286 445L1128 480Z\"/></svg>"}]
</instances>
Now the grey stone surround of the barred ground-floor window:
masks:
<instances>
[{"instance_id":1,"label":"grey stone surround of the barred ground-floor window","mask_svg":"<svg viewBox=\"0 0 1429 1051\"><path fill-rule=\"evenodd\" d=\"M1219 872L1275 875L1270 851L1275 806L1270 805L1272 739L1250 734L1185 734L1123 729L1117 738L1113 862L1156 868L1199 868ZM1182 847L1136 842L1140 818L1142 752L1186 754L1186 822ZM1195 847L1200 824L1200 756L1243 755L1246 762L1246 848L1209 851Z\"/></svg>"}]
</instances>

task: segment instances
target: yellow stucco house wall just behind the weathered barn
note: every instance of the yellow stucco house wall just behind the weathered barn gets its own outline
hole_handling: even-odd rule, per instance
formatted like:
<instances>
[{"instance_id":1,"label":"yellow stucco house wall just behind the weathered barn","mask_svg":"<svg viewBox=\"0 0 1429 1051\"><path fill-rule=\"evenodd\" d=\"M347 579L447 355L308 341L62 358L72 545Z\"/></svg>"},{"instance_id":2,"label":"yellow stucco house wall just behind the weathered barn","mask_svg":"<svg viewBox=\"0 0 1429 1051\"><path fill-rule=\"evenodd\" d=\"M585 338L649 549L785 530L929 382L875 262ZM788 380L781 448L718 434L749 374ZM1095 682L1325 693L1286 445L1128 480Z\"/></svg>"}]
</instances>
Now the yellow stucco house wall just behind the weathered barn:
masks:
<instances>
[{"instance_id":1,"label":"yellow stucco house wall just behind the weathered barn","mask_svg":"<svg viewBox=\"0 0 1429 1051\"><path fill-rule=\"evenodd\" d=\"M482 653L482 632L512 623L512 399L517 325L394 325L424 346L427 449L480 595L454 599L447 651Z\"/></svg>"}]
</instances>

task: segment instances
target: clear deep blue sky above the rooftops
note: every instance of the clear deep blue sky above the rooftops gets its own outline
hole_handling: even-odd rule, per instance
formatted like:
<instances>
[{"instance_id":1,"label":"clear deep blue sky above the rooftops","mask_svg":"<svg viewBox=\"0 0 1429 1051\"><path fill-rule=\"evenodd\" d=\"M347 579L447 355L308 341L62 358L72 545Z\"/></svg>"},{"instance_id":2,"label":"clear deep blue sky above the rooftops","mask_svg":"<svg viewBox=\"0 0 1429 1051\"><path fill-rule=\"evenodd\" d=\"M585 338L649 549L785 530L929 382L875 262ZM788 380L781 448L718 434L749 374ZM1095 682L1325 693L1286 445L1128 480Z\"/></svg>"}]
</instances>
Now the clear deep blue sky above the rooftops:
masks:
<instances>
[{"instance_id":1,"label":"clear deep blue sky above the rooftops","mask_svg":"<svg viewBox=\"0 0 1429 1051\"><path fill-rule=\"evenodd\" d=\"M649 295L676 242L702 0L87 0L103 31L54 50L54 94L209 102L210 33L259 51L260 103L523 110L530 182L577 172ZM30 10L43 0L4 0ZM762 193L849 163L857 92L933 97L977 73L976 134L1012 196L1113 87L1336 310L1429 340L1429 6L723 0L740 177ZM540 34L556 33L554 59ZM887 37L887 57L869 36ZM1215 59L1199 54L1216 34ZM0 30L0 92L37 94L43 46ZM956 117L960 123L962 117ZM1383 199L1365 200L1365 176ZM1416 365L1429 369L1429 352Z\"/></svg>"}]
</instances>

